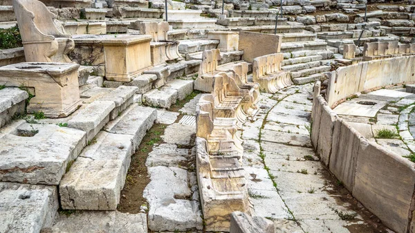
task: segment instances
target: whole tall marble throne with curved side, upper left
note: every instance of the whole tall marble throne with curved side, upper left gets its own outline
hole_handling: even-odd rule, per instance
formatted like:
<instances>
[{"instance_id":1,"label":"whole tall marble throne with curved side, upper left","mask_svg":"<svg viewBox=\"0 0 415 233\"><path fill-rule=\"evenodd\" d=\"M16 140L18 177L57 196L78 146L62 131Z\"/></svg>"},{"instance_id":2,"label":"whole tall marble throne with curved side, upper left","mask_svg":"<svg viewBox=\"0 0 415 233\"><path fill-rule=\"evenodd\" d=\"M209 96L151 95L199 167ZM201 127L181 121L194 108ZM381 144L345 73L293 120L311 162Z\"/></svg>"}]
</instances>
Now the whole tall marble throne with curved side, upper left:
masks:
<instances>
[{"instance_id":1,"label":"whole tall marble throne with curved side, upper left","mask_svg":"<svg viewBox=\"0 0 415 233\"><path fill-rule=\"evenodd\" d=\"M56 15L37 0L13 0L26 62L71 63L75 44Z\"/></svg>"}]
</instances>

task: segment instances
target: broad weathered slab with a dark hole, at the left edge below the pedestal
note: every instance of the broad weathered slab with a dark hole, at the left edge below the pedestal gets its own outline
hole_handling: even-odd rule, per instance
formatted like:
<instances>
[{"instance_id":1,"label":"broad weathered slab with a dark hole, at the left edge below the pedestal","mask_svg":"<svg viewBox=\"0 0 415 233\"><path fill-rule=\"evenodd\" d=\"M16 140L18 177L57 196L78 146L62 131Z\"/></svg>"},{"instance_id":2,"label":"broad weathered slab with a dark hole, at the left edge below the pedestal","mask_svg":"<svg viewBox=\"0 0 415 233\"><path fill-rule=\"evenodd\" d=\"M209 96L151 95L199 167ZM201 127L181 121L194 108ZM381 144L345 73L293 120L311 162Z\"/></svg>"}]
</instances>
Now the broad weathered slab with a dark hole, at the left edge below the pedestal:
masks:
<instances>
[{"instance_id":1,"label":"broad weathered slab with a dark hole, at the left edge below the pedestal","mask_svg":"<svg viewBox=\"0 0 415 233\"><path fill-rule=\"evenodd\" d=\"M58 185L85 138L84 131L54 124L20 124L0 140L0 180Z\"/></svg>"}]
</instances>

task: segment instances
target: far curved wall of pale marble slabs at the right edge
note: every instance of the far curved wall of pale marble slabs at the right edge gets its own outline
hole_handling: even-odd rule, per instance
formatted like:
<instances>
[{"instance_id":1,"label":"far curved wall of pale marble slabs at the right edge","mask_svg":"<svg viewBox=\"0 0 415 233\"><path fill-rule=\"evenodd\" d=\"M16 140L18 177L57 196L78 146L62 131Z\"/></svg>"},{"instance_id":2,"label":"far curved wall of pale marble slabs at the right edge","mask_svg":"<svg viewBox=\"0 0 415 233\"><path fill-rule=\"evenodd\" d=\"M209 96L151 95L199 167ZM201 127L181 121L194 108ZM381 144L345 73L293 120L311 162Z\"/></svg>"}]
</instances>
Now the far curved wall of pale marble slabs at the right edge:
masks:
<instances>
[{"instance_id":1,"label":"far curved wall of pale marble slabs at the right edge","mask_svg":"<svg viewBox=\"0 0 415 233\"><path fill-rule=\"evenodd\" d=\"M415 56L360 62L331 72L327 103L334 108L341 100L358 92L394 84L415 82Z\"/></svg>"}]
</instances>

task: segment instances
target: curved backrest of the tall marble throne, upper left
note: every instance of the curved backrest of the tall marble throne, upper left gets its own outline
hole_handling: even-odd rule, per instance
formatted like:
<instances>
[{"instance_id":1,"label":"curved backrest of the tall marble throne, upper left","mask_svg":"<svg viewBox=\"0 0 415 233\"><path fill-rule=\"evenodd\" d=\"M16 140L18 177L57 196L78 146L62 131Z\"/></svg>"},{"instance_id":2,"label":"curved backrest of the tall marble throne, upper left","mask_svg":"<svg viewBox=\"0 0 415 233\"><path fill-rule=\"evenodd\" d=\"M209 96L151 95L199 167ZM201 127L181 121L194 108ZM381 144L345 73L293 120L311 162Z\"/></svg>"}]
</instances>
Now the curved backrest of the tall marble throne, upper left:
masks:
<instances>
[{"instance_id":1,"label":"curved backrest of the tall marble throne, upper left","mask_svg":"<svg viewBox=\"0 0 415 233\"><path fill-rule=\"evenodd\" d=\"M13 0L13 7L23 42L52 41L55 37L71 38L44 3L37 0Z\"/></svg>"}]
</instances>

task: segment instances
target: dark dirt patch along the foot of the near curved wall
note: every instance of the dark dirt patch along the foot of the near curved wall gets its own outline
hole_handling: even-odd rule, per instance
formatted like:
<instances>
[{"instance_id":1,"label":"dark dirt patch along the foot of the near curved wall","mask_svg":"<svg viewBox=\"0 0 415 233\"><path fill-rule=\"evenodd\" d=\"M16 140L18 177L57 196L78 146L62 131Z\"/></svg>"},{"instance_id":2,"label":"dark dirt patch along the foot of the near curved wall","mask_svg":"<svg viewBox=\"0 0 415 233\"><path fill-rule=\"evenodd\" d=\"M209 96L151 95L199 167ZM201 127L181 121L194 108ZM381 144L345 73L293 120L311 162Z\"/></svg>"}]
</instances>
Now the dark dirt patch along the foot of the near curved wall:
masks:
<instances>
[{"instance_id":1,"label":"dark dirt patch along the foot of the near curved wall","mask_svg":"<svg viewBox=\"0 0 415 233\"><path fill-rule=\"evenodd\" d=\"M323 165L324 166L324 165ZM350 220L349 223L356 223L345 226L347 230L349 230L351 233L375 233L375 232L387 232L387 227L382 224L380 219L376 217L374 214L369 212L361 203L356 200L353 196L351 196L351 193L349 190L344 187L342 182L340 182L331 172L327 169L322 169L322 176L324 177L324 180L326 180L326 187L330 187L331 189L326 189L326 192L328 192L331 195L335 195L335 201L338 203L338 205L342 205L344 203L349 203L349 210L350 212L356 212L358 215L360 215L363 218L363 221L366 224L358 223L360 219L353 219ZM347 214L347 213L342 213ZM340 216L341 214L339 214ZM343 216L344 216L343 215Z\"/></svg>"}]
</instances>

